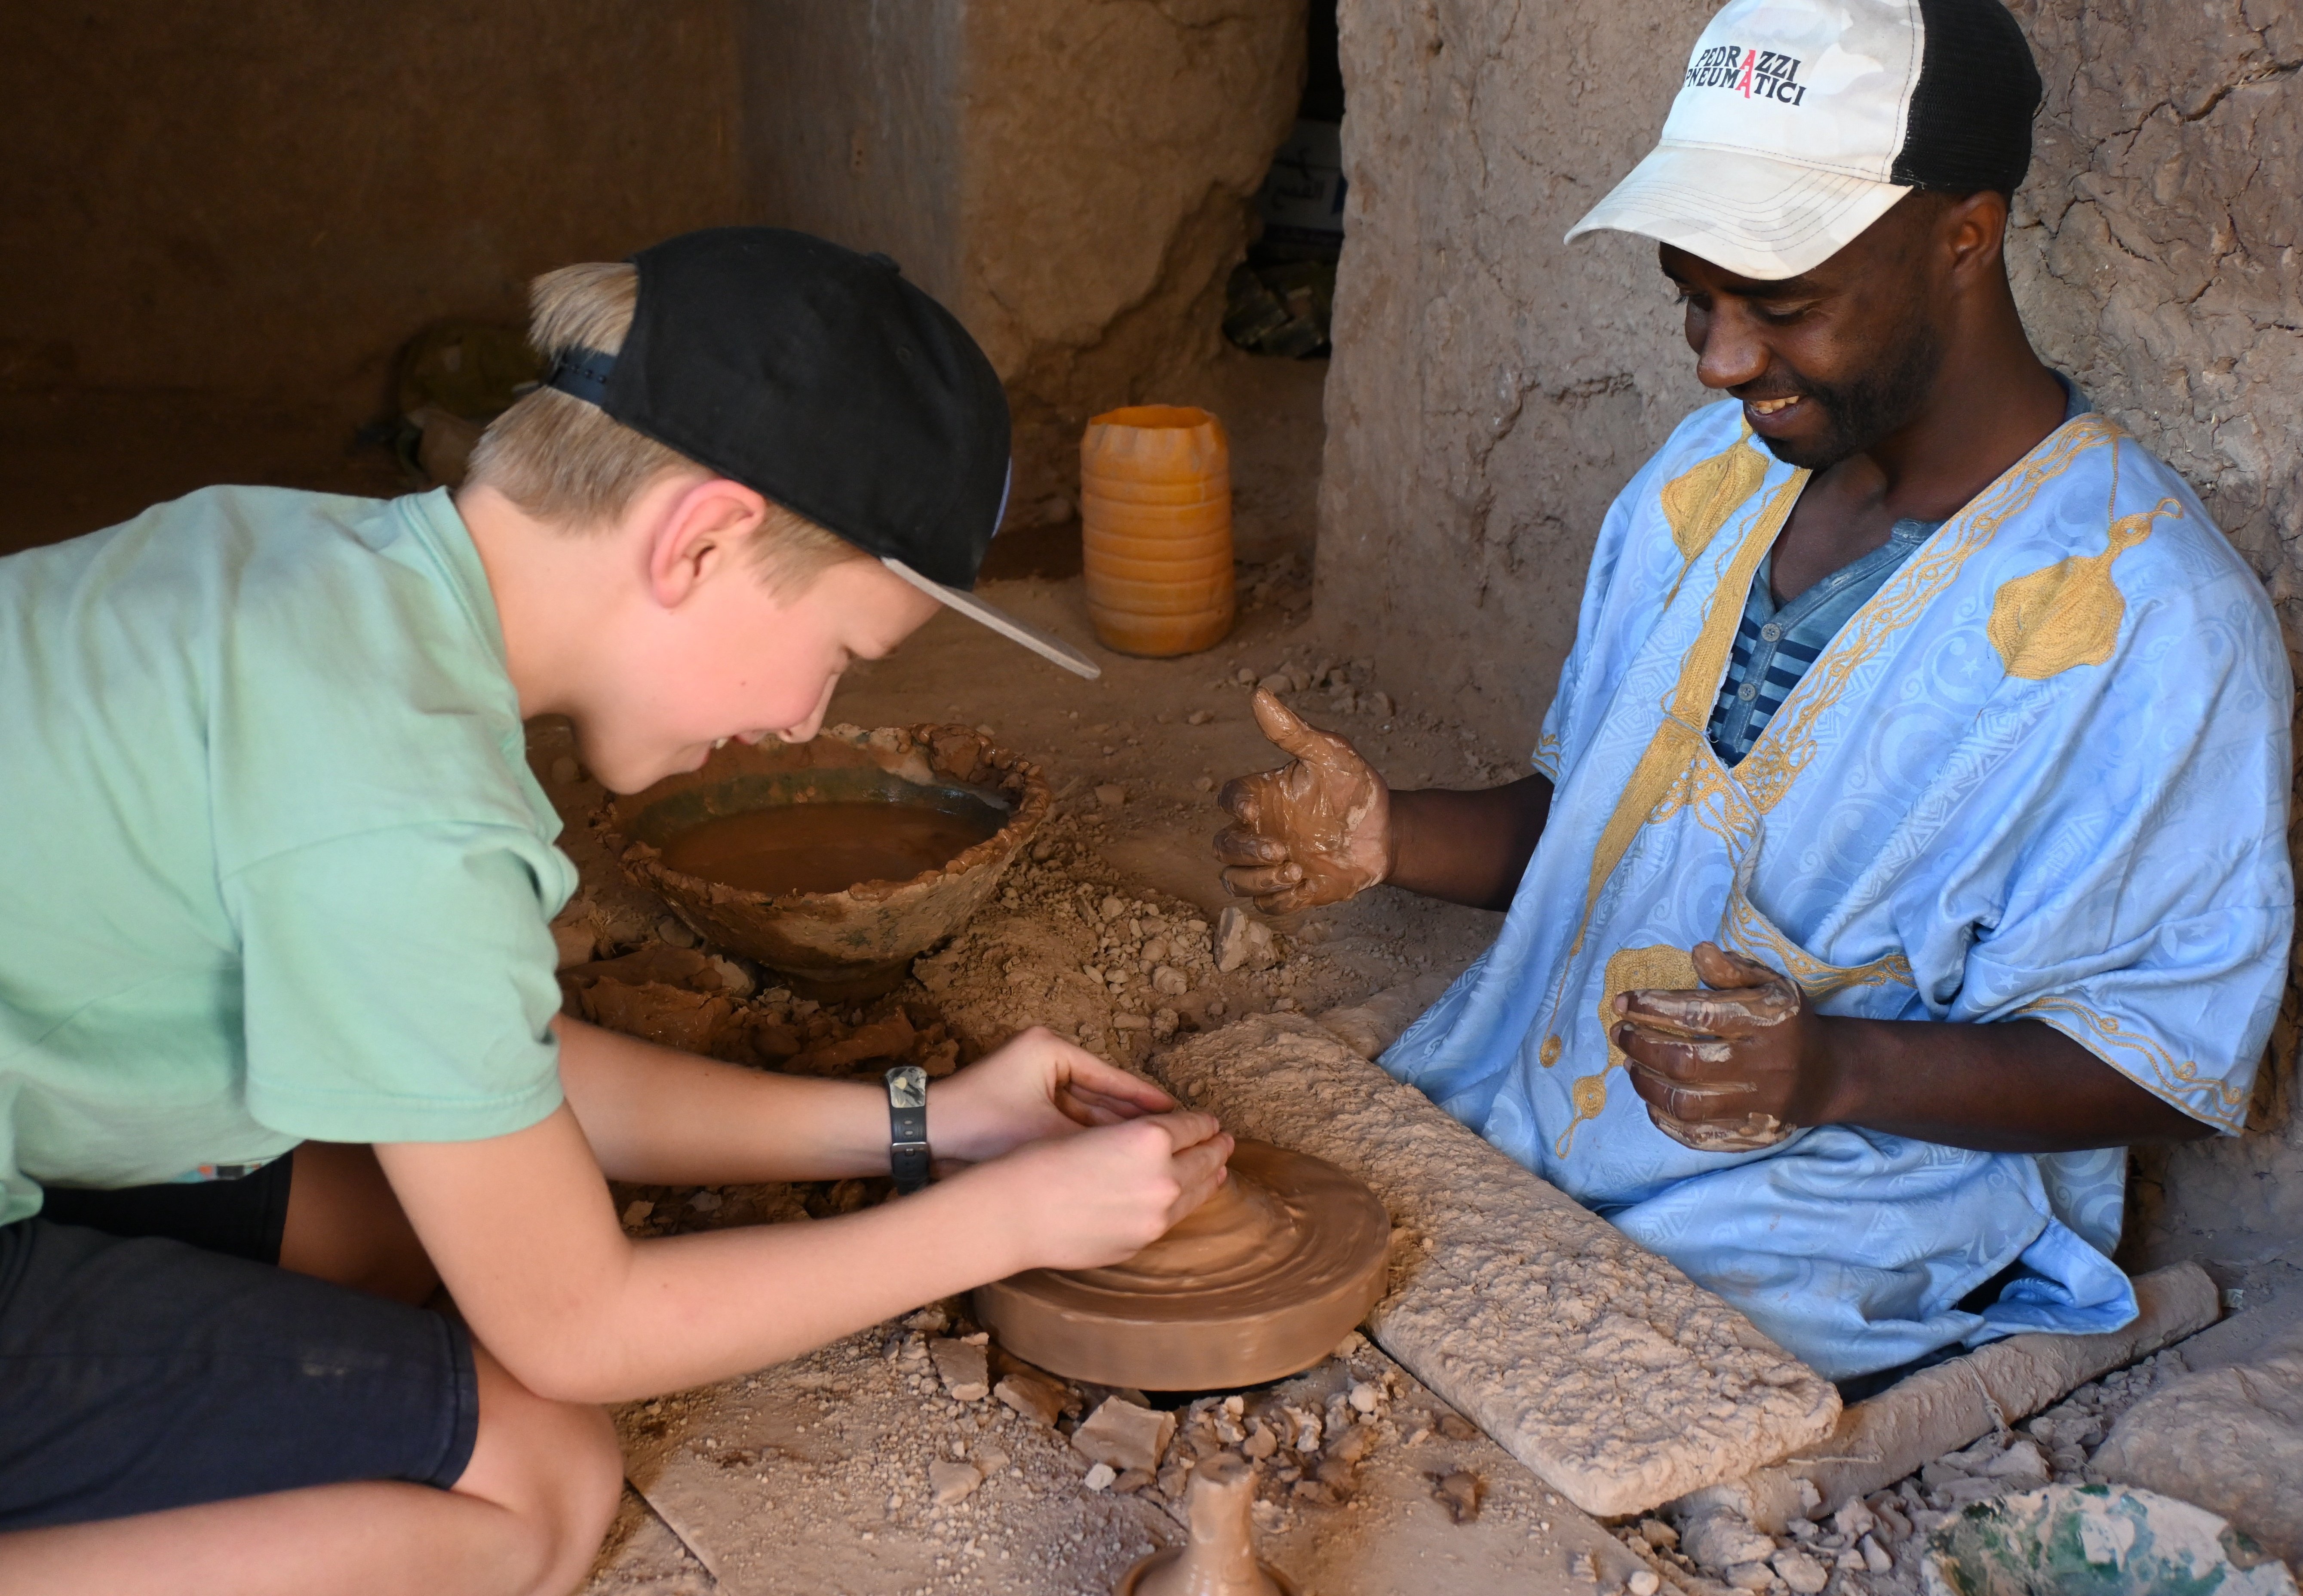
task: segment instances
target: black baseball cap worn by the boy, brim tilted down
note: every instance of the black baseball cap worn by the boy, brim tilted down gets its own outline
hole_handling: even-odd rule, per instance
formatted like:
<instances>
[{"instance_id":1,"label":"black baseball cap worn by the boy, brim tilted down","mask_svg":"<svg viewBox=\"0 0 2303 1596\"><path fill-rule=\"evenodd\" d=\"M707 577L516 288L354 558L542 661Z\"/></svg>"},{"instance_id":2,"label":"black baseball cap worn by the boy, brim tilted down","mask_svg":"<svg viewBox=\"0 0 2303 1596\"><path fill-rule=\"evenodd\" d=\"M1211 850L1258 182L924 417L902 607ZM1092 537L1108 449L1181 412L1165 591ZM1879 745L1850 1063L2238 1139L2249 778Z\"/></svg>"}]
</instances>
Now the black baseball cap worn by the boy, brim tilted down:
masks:
<instances>
[{"instance_id":1,"label":"black baseball cap worn by the boy, brim tilted down","mask_svg":"<svg viewBox=\"0 0 2303 1596\"><path fill-rule=\"evenodd\" d=\"M970 592L1006 514L1006 389L960 320L894 260L788 228L707 228L631 265L640 297L624 348L569 350L548 387L806 516L1057 666L1103 675Z\"/></svg>"}]
</instances>

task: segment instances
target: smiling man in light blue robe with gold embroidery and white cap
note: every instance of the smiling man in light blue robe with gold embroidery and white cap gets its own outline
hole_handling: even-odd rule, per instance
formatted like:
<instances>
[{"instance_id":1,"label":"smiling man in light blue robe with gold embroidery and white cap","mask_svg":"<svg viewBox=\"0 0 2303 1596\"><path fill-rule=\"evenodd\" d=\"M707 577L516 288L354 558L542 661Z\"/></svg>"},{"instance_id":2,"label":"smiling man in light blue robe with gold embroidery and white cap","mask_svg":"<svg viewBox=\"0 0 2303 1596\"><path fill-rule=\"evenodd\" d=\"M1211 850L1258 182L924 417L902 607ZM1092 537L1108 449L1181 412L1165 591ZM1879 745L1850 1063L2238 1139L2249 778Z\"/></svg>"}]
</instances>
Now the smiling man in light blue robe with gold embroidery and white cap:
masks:
<instances>
[{"instance_id":1,"label":"smiling man in light blue robe with gold embroidery and white cap","mask_svg":"<svg viewBox=\"0 0 2303 1596\"><path fill-rule=\"evenodd\" d=\"M1384 1066L1849 1391L2135 1315L2123 1147L2239 1133L2294 921L2268 603L2008 292L2036 104L1997 0L1727 5L1571 237L1658 240L1734 403L1610 509L1538 774L1267 698L1218 838L1508 907Z\"/></svg>"}]
</instances>

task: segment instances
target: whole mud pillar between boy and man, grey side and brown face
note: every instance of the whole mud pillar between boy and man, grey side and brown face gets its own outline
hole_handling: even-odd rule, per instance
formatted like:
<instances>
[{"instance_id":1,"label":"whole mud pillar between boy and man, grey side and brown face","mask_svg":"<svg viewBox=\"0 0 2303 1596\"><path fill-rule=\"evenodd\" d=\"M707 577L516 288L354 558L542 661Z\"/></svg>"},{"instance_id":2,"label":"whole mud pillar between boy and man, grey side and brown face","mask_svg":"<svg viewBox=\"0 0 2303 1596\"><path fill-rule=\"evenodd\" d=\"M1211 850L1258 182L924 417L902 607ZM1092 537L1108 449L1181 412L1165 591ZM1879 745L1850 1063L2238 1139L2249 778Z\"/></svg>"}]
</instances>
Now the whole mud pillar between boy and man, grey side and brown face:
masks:
<instances>
[{"instance_id":1,"label":"whole mud pillar between boy and man, grey side and brown face","mask_svg":"<svg viewBox=\"0 0 2303 1596\"><path fill-rule=\"evenodd\" d=\"M748 39L767 219L967 322L1016 410L1011 523L1062 520L1087 417L1218 355L1303 0L755 0Z\"/></svg>"}]
</instances>

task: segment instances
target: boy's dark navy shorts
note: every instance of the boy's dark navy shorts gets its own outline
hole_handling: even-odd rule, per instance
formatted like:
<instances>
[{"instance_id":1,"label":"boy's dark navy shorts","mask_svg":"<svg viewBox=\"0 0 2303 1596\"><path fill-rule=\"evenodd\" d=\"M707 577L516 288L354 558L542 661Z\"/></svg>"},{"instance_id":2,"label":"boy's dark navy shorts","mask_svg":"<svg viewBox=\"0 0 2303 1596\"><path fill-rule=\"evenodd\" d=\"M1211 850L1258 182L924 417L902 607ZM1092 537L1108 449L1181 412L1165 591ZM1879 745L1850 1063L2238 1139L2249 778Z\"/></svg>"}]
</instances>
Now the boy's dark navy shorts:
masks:
<instances>
[{"instance_id":1,"label":"boy's dark navy shorts","mask_svg":"<svg viewBox=\"0 0 2303 1596\"><path fill-rule=\"evenodd\" d=\"M479 1435L470 1338L279 1269L288 1177L281 1158L237 1181L51 1193L0 1228L0 1532L456 1483Z\"/></svg>"}]
</instances>

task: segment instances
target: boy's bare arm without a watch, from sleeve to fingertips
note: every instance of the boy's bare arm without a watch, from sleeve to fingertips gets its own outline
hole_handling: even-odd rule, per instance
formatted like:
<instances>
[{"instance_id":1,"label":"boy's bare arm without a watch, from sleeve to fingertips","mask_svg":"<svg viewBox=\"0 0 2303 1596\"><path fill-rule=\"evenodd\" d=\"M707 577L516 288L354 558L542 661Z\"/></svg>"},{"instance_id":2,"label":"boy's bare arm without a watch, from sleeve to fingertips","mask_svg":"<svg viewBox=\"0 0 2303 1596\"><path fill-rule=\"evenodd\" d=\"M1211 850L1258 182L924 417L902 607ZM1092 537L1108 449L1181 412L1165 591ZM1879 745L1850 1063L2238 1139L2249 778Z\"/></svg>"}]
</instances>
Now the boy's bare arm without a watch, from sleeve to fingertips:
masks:
<instances>
[{"instance_id":1,"label":"boy's bare arm without a watch, from sleeve to fingertips","mask_svg":"<svg viewBox=\"0 0 2303 1596\"><path fill-rule=\"evenodd\" d=\"M1230 1138L1209 1115L1142 1117L843 1218L659 1241L624 1237L571 1108L375 1156L504 1368L537 1396L613 1403L765 1368L1018 1269L1117 1262L1216 1188Z\"/></svg>"}]
</instances>

